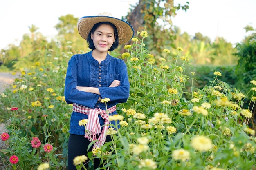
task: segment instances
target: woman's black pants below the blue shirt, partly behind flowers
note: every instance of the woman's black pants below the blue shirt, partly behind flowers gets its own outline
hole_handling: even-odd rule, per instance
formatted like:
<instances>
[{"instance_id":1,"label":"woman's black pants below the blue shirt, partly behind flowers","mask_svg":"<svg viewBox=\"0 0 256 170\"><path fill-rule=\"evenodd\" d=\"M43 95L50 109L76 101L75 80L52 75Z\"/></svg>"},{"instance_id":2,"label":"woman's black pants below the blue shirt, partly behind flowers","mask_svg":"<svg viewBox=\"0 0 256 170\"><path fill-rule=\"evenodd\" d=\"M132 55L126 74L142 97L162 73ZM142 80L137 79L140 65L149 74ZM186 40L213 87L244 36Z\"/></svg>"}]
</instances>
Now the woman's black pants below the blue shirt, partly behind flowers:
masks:
<instances>
[{"instance_id":1,"label":"woman's black pants below the blue shirt, partly behind flowers","mask_svg":"<svg viewBox=\"0 0 256 170\"><path fill-rule=\"evenodd\" d=\"M110 135L106 137L106 142L111 141ZM76 170L76 166L74 166L73 160L77 156L85 155L87 156L87 153L92 151L92 147L87 151L88 146L90 144L89 139L84 137L84 135L74 135L70 134L69 140L68 140L68 155L67 155L67 169L68 170ZM88 161L87 160L85 167L88 169ZM94 164L94 170L97 169L100 166L100 159L93 159Z\"/></svg>"}]
</instances>

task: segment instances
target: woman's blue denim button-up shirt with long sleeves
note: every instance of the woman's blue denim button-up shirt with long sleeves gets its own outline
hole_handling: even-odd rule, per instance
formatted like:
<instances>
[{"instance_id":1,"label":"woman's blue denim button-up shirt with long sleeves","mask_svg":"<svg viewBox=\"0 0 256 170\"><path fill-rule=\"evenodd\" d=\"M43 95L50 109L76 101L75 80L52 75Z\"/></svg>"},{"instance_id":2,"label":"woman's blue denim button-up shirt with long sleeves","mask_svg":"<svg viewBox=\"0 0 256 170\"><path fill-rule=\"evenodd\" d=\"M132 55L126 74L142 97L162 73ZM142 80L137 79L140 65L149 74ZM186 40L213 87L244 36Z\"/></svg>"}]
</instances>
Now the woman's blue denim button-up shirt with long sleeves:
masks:
<instances>
[{"instance_id":1,"label":"woman's blue denim button-up shirt with long sleeves","mask_svg":"<svg viewBox=\"0 0 256 170\"><path fill-rule=\"evenodd\" d=\"M117 87L109 87L115 80L120 81ZM101 95L94 93L83 92L76 89L76 86L98 87ZM88 108L100 108L106 110L105 103L98 101L109 98L107 107L112 107L118 103L124 103L129 97L130 83L128 80L126 64L123 60L115 58L107 54L105 60L99 64L92 57L92 51L85 54L73 55L67 67L65 80L65 100L68 104L76 103ZM117 112L110 113L110 115ZM88 119L88 115L72 112L70 118L69 132L77 135L84 135L84 126L79 126L78 122L82 119ZM101 126L104 124L104 119L99 115ZM111 122L115 124L115 122Z\"/></svg>"}]
</instances>

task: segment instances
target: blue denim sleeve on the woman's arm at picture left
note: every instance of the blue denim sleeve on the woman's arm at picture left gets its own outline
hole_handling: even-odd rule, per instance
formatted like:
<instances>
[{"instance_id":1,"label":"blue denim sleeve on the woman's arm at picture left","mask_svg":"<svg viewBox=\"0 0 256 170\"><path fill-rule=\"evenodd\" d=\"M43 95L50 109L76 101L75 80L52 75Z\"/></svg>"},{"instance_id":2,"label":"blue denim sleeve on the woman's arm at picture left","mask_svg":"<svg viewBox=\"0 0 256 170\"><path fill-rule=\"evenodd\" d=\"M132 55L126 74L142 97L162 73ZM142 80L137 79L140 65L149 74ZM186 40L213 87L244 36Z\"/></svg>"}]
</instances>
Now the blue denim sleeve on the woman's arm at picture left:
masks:
<instances>
[{"instance_id":1,"label":"blue denim sleeve on the woman's arm at picture left","mask_svg":"<svg viewBox=\"0 0 256 170\"><path fill-rule=\"evenodd\" d=\"M76 103L88 108L94 108L100 95L83 92L76 89L77 86L77 56L70 58L67 67L64 96L68 104Z\"/></svg>"}]
</instances>

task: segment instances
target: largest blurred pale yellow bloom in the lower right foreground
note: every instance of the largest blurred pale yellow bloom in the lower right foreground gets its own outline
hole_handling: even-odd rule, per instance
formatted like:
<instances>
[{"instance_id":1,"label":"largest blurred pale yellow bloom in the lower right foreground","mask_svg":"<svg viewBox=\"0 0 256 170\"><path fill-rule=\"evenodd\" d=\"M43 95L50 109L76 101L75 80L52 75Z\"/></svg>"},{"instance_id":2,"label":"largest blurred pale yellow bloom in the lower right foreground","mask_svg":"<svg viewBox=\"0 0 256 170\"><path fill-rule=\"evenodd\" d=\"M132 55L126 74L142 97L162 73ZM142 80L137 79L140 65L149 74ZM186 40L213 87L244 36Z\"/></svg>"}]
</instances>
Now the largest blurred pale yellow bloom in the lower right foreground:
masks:
<instances>
[{"instance_id":1,"label":"largest blurred pale yellow bloom in the lower right foreground","mask_svg":"<svg viewBox=\"0 0 256 170\"><path fill-rule=\"evenodd\" d=\"M213 147L211 139L204 136L196 136L191 139L191 146L199 152L208 151Z\"/></svg>"}]
</instances>

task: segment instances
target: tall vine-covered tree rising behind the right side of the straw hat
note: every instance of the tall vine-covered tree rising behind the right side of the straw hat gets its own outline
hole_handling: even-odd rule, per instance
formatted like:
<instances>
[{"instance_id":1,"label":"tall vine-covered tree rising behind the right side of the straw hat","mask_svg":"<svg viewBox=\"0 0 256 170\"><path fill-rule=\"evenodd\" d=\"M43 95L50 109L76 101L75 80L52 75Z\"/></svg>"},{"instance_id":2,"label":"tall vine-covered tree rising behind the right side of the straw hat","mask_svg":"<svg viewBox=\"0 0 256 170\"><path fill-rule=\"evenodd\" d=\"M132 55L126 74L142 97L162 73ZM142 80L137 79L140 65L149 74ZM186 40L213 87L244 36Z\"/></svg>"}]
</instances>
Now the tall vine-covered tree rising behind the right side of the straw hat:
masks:
<instances>
[{"instance_id":1,"label":"tall vine-covered tree rising behind the right side of the straw hat","mask_svg":"<svg viewBox=\"0 0 256 170\"><path fill-rule=\"evenodd\" d=\"M147 31L148 48L160 53L166 46L173 46L174 32L171 17L176 11L189 9L189 2L174 5L174 0L139 0L127 16L127 21L134 26L135 31Z\"/></svg>"}]
</instances>

